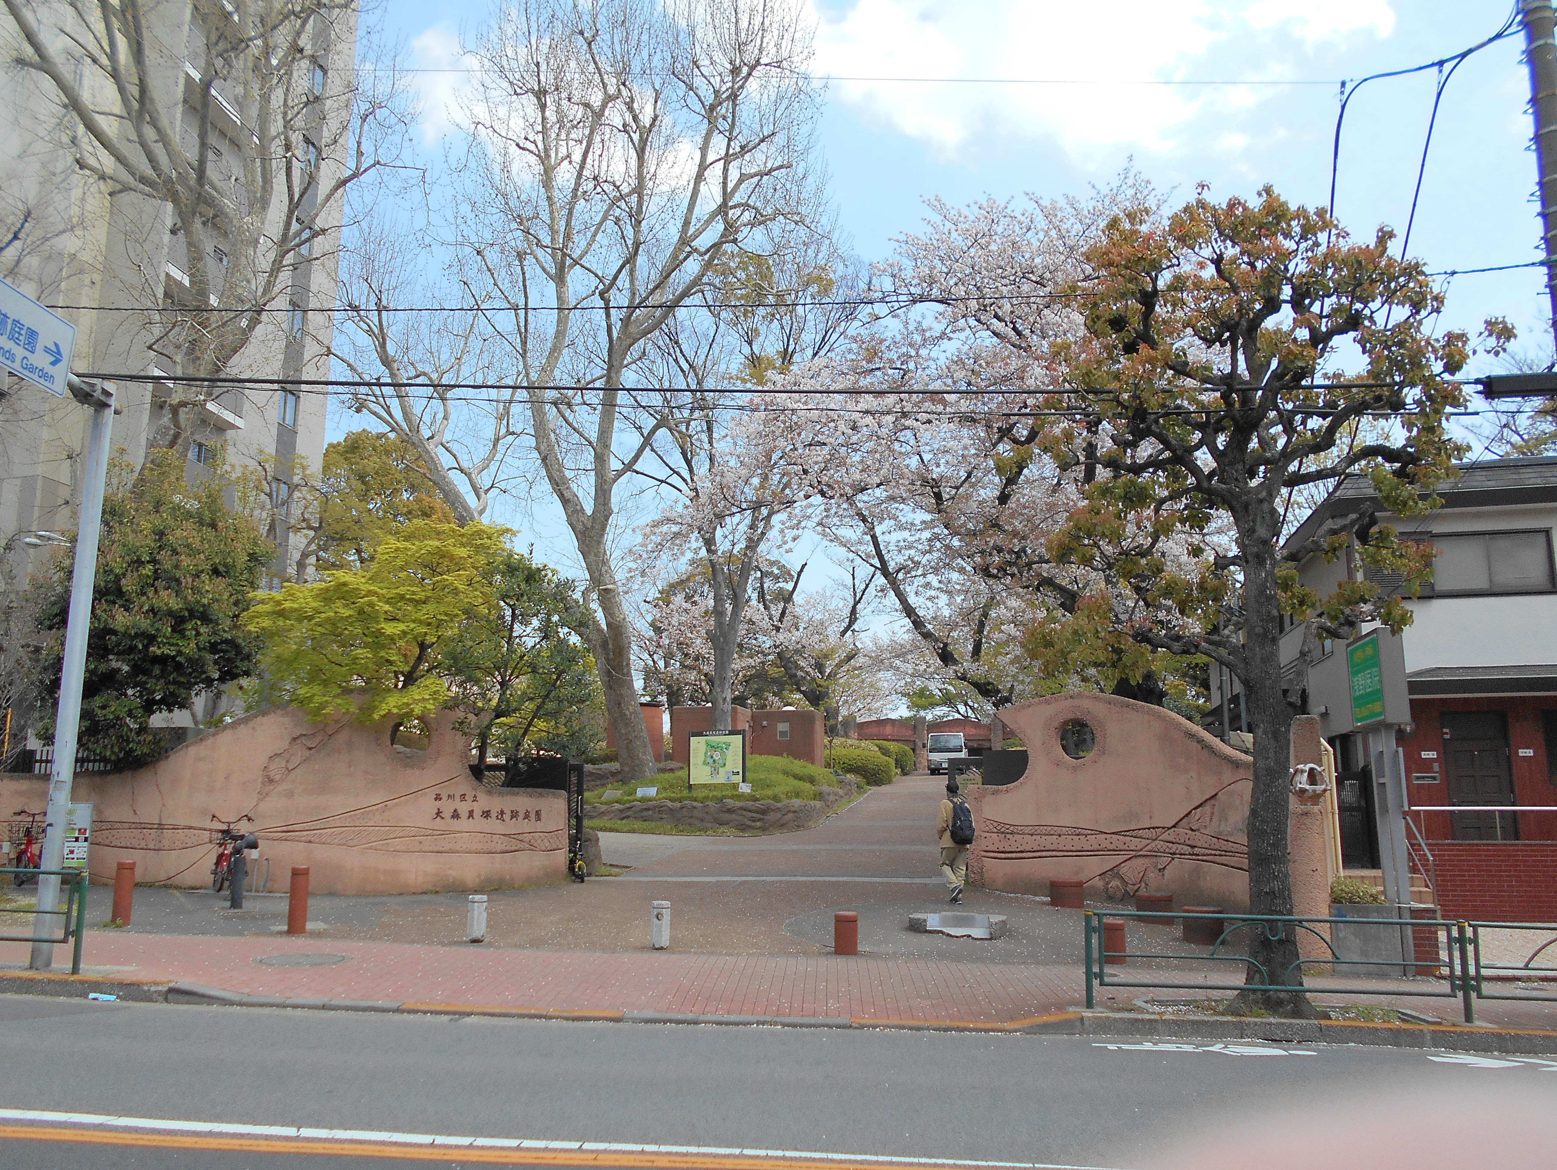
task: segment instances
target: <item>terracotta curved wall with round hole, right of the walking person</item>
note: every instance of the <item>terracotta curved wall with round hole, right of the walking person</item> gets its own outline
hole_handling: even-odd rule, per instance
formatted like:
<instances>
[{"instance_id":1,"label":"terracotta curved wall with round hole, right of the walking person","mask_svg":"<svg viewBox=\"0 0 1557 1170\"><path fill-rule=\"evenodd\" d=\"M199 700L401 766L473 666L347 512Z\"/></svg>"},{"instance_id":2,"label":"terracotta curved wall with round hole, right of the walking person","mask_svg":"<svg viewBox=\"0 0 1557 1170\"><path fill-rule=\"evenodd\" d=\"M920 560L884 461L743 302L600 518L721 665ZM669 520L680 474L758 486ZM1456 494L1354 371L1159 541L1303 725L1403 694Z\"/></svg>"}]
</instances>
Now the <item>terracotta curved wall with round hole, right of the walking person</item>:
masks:
<instances>
[{"instance_id":1,"label":"terracotta curved wall with round hole, right of the walking person","mask_svg":"<svg viewBox=\"0 0 1557 1170\"><path fill-rule=\"evenodd\" d=\"M1051 879L1079 878L1090 898L1154 890L1177 906L1249 909L1249 756L1115 695L1051 695L1000 714L1026 744L1028 770L1015 784L968 789L973 881L1046 895ZM1060 748L1071 719L1096 736L1084 759Z\"/></svg>"}]
</instances>

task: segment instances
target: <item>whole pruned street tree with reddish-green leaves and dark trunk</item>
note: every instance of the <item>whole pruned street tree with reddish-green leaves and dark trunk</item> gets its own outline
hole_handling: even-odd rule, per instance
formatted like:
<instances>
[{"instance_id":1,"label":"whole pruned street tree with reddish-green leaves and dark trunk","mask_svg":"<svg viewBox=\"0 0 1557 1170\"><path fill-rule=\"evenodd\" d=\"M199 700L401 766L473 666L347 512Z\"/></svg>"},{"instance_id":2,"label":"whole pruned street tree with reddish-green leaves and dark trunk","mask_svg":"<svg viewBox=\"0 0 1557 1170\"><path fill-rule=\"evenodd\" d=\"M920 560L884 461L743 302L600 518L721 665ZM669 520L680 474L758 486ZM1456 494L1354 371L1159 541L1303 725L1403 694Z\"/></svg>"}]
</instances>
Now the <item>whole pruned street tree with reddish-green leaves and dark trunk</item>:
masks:
<instances>
[{"instance_id":1,"label":"whole pruned street tree with reddish-green leaves and dark trunk","mask_svg":"<svg viewBox=\"0 0 1557 1170\"><path fill-rule=\"evenodd\" d=\"M1434 335L1443 296L1422 263L1390 255L1392 240L1380 229L1355 243L1323 208L1292 207L1271 188L1252 202L1200 194L1166 219L1127 207L1087 249L1088 275L1068 289L1084 328L1056 349L1071 392L1048 405L1071 419L1043 447L1062 468L1085 465L1085 499L1048 548L1110 587L1056 608L1040 641L1073 638L1135 677L1166 652L1239 678L1255 734L1249 896L1260 915L1292 913L1297 708L1283 691L1283 618L1328 636L1411 621L1398 596L1365 580L1319 596L1295 566L1350 545L1412 588L1429 551L1398 541L1376 512L1431 507L1457 450L1445 414L1462 392L1448 378L1468 338ZM1509 335L1488 322L1493 350ZM1387 436L1355 442L1373 415L1390 420ZM1370 476L1376 499L1283 549L1291 493L1345 475ZM1295 934L1277 935L1255 932L1250 954L1275 982L1300 986ZM1300 991L1247 986L1239 1004L1313 1014Z\"/></svg>"}]
</instances>

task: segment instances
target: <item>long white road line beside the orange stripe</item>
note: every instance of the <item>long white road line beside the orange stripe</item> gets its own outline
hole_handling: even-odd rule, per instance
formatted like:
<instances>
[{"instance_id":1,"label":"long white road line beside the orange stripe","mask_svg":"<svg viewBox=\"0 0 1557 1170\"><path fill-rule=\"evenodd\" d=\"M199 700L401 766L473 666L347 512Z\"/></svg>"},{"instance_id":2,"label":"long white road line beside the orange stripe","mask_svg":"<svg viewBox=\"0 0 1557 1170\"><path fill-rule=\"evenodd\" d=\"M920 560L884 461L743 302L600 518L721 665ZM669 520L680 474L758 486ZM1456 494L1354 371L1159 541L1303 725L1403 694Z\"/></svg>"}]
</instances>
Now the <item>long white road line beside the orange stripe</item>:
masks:
<instances>
[{"instance_id":1,"label":"long white road line beside the orange stripe","mask_svg":"<svg viewBox=\"0 0 1557 1170\"><path fill-rule=\"evenodd\" d=\"M319 1130L293 1125L244 1125L240 1122L185 1122L167 1117L115 1117L95 1112L54 1112L50 1109L0 1109L0 1122L39 1122L111 1130L160 1130L165 1133L229 1134L241 1137L308 1137L333 1142L388 1142L395 1145L455 1145L500 1150L615 1150L646 1154L694 1154L708 1158L805 1158L819 1162L881 1162L884 1165L984 1167L986 1170L1116 1170L1099 1165L1062 1162L973 1162L953 1158L894 1158L891 1154L841 1154L816 1150L757 1150L712 1145L638 1145L632 1142L556 1142L536 1137L466 1137L458 1134L414 1134L378 1130Z\"/></svg>"}]
</instances>

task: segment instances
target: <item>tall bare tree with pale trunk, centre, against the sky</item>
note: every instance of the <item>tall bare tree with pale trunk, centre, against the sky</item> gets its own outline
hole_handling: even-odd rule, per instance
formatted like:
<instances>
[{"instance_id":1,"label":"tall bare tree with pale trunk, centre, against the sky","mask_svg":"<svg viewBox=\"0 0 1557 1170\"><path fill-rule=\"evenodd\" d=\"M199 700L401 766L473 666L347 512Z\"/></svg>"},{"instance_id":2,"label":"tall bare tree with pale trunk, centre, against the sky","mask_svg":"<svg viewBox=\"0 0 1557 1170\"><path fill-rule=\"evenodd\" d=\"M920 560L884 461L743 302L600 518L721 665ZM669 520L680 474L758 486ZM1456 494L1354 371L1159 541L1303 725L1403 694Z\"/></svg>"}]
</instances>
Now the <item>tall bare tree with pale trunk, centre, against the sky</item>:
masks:
<instances>
[{"instance_id":1,"label":"tall bare tree with pale trunk, centre, against the sky","mask_svg":"<svg viewBox=\"0 0 1557 1170\"><path fill-rule=\"evenodd\" d=\"M476 47L459 238L587 574L623 775L652 755L612 557L618 490L670 422L646 347L766 229L803 219L817 93L793 0L520 0ZM623 426L626 417L635 425Z\"/></svg>"}]
</instances>

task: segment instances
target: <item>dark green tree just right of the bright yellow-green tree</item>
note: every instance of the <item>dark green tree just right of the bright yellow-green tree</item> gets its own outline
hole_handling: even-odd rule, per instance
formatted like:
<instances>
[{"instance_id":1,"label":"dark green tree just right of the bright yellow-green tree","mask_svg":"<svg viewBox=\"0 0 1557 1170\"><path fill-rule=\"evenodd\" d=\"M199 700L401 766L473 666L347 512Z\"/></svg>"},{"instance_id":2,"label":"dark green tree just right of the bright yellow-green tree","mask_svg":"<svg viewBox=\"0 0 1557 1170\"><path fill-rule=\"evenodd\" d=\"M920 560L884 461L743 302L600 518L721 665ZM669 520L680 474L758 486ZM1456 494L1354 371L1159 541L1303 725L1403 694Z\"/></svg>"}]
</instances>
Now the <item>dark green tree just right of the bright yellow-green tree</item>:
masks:
<instances>
[{"instance_id":1,"label":"dark green tree just right of the bright yellow-green tree","mask_svg":"<svg viewBox=\"0 0 1557 1170\"><path fill-rule=\"evenodd\" d=\"M475 736L475 761L589 753L599 739L595 660L573 627L581 601L571 580L518 552L490 569L492 607L462 624L441 652L450 703Z\"/></svg>"}]
</instances>

